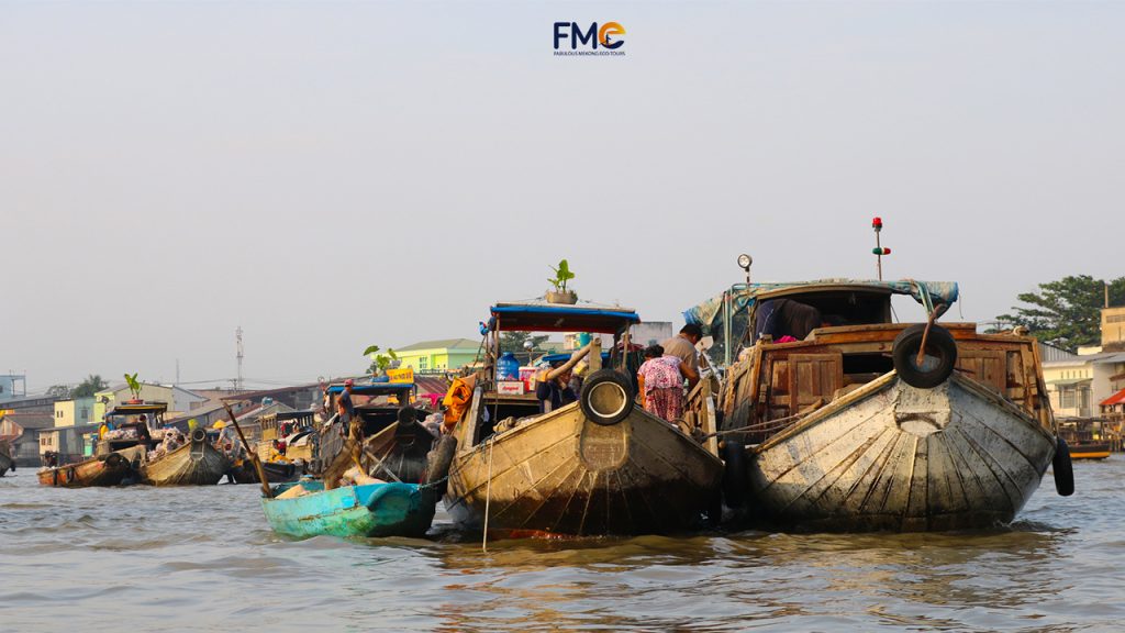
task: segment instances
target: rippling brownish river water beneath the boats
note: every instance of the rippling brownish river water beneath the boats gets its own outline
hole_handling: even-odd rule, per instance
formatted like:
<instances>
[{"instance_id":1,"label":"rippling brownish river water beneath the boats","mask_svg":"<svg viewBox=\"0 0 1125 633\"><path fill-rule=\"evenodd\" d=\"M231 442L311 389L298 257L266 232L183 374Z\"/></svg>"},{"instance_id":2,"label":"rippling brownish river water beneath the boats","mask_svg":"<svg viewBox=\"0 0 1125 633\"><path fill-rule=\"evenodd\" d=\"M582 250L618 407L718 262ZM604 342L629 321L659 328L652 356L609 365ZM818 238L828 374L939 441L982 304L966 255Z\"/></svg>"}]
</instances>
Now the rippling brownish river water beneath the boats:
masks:
<instances>
[{"instance_id":1,"label":"rippling brownish river water beneath the boats","mask_svg":"<svg viewBox=\"0 0 1125 633\"><path fill-rule=\"evenodd\" d=\"M1125 457L1008 528L295 541L255 485L0 478L0 631L1120 631Z\"/></svg>"}]
</instances>

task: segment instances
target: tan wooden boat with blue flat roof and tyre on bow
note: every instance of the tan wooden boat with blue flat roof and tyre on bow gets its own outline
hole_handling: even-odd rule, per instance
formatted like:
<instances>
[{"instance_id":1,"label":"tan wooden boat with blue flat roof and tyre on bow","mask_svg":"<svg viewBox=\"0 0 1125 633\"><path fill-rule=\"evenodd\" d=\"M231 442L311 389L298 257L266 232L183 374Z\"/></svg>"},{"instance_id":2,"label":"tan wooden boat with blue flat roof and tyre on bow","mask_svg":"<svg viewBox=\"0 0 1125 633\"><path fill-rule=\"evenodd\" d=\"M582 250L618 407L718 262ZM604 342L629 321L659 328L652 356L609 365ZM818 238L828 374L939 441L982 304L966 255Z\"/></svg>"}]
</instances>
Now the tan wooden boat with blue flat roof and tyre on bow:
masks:
<instances>
[{"instance_id":1,"label":"tan wooden boat with blue flat roof and tyre on bow","mask_svg":"<svg viewBox=\"0 0 1125 633\"><path fill-rule=\"evenodd\" d=\"M629 330L639 321L632 310L593 304L492 307L484 369L450 392L468 400L446 497L460 526L497 536L662 534L699 527L713 514L722 462L634 407L639 359ZM493 375L504 331L613 335L612 368L601 368L595 337L584 348L590 373L578 402L541 413L523 383Z\"/></svg>"}]
</instances>

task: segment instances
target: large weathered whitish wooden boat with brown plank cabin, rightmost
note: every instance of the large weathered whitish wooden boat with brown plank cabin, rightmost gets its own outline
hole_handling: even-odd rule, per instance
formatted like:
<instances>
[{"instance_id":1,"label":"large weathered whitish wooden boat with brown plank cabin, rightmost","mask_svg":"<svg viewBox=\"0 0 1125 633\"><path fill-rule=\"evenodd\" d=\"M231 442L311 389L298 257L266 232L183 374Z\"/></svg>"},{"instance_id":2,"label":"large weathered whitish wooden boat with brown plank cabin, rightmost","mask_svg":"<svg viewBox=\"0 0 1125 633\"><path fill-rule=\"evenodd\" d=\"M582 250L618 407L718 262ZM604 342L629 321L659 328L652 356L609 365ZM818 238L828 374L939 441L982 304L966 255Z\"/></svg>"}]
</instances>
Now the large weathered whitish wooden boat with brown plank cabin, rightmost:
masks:
<instances>
[{"instance_id":1,"label":"large weathered whitish wooden boat with brown plank cabin, rightmost","mask_svg":"<svg viewBox=\"0 0 1125 633\"><path fill-rule=\"evenodd\" d=\"M739 285L687 313L718 331L720 313L747 311L753 326L721 403L736 447L724 455L745 461L745 478L726 483L731 505L804 528L960 529L1010 521L1052 463L1060 493L1073 491L1035 339L891 323L896 293L936 319L956 285ZM781 331L762 315L780 300L816 309L821 327L772 340Z\"/></svg>"}]
</instances>

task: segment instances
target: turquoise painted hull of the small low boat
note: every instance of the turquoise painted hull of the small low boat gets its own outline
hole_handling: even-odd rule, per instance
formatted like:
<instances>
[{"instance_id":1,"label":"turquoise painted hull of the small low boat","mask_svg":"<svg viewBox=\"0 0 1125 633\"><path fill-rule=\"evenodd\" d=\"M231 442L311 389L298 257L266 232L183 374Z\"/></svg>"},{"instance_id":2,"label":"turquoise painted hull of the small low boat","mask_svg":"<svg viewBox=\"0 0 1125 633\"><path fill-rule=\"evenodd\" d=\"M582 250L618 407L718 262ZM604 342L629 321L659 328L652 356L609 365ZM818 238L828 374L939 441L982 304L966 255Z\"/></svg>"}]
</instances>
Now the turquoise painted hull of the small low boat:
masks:
<instances>
[{"instance_id":1,"label":"turquoise painted hull of the small low boat","mask_svg":"<svg viewBox=\"0 0 1125 633\"><path fill-rule=\"evenodd\" d=\"M280 494L298 485L273 489ZM438 494L416 483L372 483L324 490L324 483L302 482L310 494L262 499L273 532L290 536L424 536L433 523Z\"/></svg>"}]
</instances>

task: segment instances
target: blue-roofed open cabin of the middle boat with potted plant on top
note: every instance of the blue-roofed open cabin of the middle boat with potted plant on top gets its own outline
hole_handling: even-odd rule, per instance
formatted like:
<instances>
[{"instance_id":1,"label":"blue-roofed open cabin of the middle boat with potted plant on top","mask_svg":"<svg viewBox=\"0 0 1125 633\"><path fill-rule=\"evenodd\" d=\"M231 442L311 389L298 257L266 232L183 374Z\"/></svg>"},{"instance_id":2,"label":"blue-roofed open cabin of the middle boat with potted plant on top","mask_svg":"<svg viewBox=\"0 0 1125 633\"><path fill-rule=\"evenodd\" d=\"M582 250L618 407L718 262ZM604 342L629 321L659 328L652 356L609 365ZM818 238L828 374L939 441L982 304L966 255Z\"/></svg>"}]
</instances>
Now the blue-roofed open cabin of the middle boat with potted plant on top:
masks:
<instances>
[{"instance_id":1,"label":"blue-roofed open cabin of the middle boat with potted plant on top","mask_svg":"<svg viewBox=\"0 0 1125 633\"><path fill-rule=\"evenodd\" d=\"M565 305L546 302L497 303L490 309L485 333L485 362L478 375L482 402L477 409L479 419L472 427L469 445L476 445L495 430L496 422L507 418L525 418L541 413L536 393L528 390L522 381L497 380L498 360L502 356L501 335L503 332L554 333L585 332L613 336L613 347L602 351L601 339L594 337L592 351L587 355L590 372L603 366L624 371L636 381L640 366L639 347L631 344L629 333L634 323L640 322L637 312L620 306L582 304ZM596 351L594 351L596 350ZM555 355L557 362L570 358L570 354ZM636 384L633 385L636 387ZM465 439L462 438L462 442Z\"/></svg>"}]
</instances>

